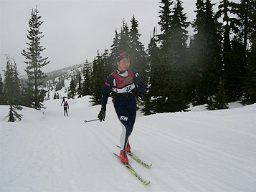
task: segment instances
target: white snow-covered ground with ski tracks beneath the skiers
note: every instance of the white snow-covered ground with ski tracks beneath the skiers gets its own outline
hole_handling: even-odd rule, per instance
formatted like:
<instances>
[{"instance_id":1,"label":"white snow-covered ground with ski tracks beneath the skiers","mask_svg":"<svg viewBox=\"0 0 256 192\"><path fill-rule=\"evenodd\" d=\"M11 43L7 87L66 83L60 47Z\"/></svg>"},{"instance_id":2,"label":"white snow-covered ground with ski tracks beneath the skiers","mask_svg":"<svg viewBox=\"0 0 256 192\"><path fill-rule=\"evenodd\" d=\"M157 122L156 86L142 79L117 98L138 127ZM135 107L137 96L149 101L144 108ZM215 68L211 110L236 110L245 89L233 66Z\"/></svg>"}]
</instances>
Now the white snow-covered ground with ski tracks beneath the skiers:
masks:
<instances>
[{"instance_id":1,"label":"white snow-covered ground with ski tracks beneath the skiers","mask_svg":"<svg viewBox=\"0 0 256 192\"><path fill-rule=\"evenodd\" d=\"M143 185L117 158L121 126L109 101L105 122L88 97L48 100L46 110L24 107L7 123L0 106L0 191L256 191L256 104L229 110L138 115L131 148L153 163L131 165ZM234 105L232 105L234 106Z\"/></svg>"}]
</instances>

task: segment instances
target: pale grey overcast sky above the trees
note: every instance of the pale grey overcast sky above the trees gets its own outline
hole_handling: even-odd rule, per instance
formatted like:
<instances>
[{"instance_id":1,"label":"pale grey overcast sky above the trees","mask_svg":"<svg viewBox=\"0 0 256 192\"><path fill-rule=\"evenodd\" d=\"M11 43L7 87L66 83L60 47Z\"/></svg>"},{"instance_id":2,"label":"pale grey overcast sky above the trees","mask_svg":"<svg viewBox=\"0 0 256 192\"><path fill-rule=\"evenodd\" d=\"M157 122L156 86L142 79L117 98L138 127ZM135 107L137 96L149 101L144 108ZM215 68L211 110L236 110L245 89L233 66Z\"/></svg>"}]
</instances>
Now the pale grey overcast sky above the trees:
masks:
<instances>
[{"instance_id":1,"label":"pale grey overcast sky above the trees","mask_svg":"<svg viewBox=\"0 0 256 192\"><path fill-rule=\"evenodd\" d=\"M235 0L239 1L239 0ZM140 41L148 48L150 32L159 18L160 0L0 0L0 73L6 67L8 54L16 61L18 71L25 75L24 56L29 42L27 30L31 11L37 5L44 21L40 31L44 35L41 45L46 48L43 57L50 63L43 72L80 64L88 59L92 62L97 50L110 49L115 29L120 32L123 19L131 27L133 15L138 21ZM219 2L213 0L212 3ZM195 19L196 0L183 0L187 21ZM215 6L215 9L217 6ZM158 33L160 27L158 26ZM192 34L189 28L189 34Z\"/></svg>"}]
</instances>

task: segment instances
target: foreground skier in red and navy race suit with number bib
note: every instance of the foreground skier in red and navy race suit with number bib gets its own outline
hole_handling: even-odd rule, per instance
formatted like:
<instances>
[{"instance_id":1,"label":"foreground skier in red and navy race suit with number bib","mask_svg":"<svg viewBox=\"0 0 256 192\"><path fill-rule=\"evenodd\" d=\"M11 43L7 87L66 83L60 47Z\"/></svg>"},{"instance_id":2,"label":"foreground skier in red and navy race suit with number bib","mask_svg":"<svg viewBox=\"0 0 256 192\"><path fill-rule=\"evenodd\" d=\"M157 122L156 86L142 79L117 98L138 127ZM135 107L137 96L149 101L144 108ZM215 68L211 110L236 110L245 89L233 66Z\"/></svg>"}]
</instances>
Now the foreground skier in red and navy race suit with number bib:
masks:
<instances>
[{"instance_id":1,"label":"foreground skier in red and navy race suit with number bib","mask_svg":"<svg viewBox=\"0 0 256 192\"><path fill-rule=\"evenodd\" d=\"M136 120L136 85L140 89L140 95L143 97L146 92L144 82L141 80L137 72L130 67L130 56L126 52L119 52L116 57L118 69L112 72L103 87L103 97L101 110L98 115L100 122L105 120L106 104L110 91L114 92L114 107L118 115L123 132L120 135L120 160L128 164L126 152L131 153L131 146L128 138L133 131L133 125Z\"/></svg>"}]
</instances>

